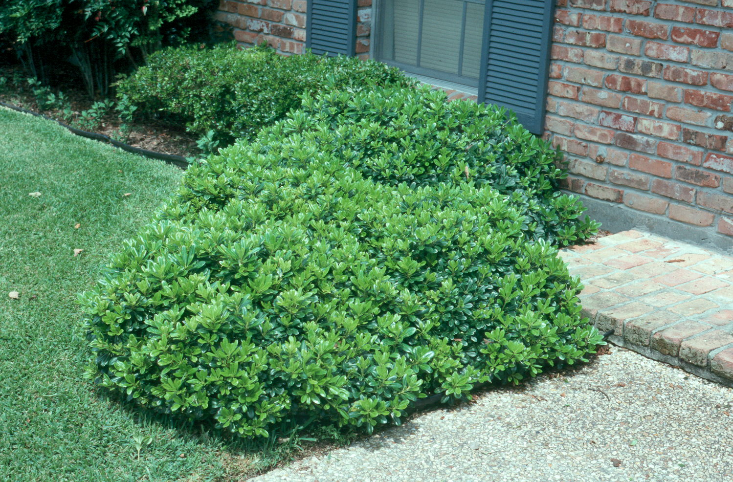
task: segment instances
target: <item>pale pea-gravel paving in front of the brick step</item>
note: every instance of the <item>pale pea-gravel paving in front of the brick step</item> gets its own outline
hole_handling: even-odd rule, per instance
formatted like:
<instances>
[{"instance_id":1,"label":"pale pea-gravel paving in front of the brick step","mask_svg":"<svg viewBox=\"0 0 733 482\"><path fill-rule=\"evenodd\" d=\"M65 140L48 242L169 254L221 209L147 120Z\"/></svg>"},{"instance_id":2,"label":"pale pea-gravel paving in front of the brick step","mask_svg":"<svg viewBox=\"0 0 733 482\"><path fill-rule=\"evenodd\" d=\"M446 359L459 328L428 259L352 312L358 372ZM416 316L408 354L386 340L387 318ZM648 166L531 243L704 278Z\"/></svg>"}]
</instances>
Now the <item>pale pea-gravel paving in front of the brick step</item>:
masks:
<instances>
[{"instance_id":1,"label":"pale pea-gravel paving in front of the brick step","mask_svg":"<svg viewBox=\"0 0 733 482\"><path fill-rule=\"evenodd\" d=\"M733 481L733 389L611 346L252 482Z\"/></svg>"}]
</instances>

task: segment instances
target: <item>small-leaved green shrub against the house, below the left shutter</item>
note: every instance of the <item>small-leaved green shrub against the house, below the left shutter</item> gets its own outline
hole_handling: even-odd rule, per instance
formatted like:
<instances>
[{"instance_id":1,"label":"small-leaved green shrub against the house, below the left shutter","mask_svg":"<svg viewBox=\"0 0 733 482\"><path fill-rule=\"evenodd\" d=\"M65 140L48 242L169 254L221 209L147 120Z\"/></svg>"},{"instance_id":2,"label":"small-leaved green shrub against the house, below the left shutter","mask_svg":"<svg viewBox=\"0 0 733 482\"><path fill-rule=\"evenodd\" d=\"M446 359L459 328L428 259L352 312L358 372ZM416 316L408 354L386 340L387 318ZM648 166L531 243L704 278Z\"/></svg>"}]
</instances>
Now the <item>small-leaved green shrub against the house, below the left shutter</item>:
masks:
<instances>
[{"instance_id":1,"label":"small-leaved green shrub against the house, below the left shutter","mask_svg":"<svg viewBox=\"0 0 733 482\"><path fill-rule=\"evenodd\" d=\"M234 44L215 48L186 46L158 51L117 85L140 114L162 113L189 130L230 144L252 138L298 108L300 95L370 85L410 86L413 81L394 67L355 57L279 56L265 47L240 50Z\"/></svg>"}]
</instances>

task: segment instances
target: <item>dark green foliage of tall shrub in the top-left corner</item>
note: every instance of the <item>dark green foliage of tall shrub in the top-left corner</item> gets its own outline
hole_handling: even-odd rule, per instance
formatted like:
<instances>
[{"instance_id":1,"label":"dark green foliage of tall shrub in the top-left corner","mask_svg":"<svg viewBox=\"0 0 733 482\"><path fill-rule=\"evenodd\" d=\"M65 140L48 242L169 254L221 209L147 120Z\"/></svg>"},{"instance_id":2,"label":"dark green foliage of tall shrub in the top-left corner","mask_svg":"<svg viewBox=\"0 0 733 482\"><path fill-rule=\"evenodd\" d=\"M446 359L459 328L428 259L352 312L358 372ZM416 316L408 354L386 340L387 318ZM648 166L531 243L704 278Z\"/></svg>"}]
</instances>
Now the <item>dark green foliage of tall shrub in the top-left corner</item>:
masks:
<instances>
[{"instance_id":1,"label":"dark green foliage of tall shrub in the top-left corner","mask_svg":"<svg viewBox=\"0 0 733 482\"><path fill-rule=\"evenodd\" d=\"M106 94L117 60L144 62L161 46L180 44L207 23L208 10L216 5L216 0L3 0L0 45L9 42L44 83L47 64L71 56L94 97Z\"/></svg>"}]
</instances>

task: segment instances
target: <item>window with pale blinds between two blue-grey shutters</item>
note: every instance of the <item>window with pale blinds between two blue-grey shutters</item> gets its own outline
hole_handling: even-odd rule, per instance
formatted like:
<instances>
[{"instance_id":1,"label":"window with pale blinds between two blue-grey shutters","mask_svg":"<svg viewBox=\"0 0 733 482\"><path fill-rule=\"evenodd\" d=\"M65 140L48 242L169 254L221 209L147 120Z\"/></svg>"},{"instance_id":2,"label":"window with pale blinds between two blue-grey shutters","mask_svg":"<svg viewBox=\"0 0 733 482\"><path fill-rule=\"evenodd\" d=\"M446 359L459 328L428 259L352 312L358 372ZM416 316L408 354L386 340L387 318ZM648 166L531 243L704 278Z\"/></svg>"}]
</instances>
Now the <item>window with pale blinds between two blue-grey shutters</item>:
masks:
<instances>
[{"instance_id":1,"label":"window with pale blinds between two blue-grey shutters","mask_svg":"<svg viewBox=\"0 0 733 482\"><path fill-rule=\"evenodd\" d=\"M378 60L405 72L479 86L485 0L382 0Z\"/></svg>"}]
</instances>

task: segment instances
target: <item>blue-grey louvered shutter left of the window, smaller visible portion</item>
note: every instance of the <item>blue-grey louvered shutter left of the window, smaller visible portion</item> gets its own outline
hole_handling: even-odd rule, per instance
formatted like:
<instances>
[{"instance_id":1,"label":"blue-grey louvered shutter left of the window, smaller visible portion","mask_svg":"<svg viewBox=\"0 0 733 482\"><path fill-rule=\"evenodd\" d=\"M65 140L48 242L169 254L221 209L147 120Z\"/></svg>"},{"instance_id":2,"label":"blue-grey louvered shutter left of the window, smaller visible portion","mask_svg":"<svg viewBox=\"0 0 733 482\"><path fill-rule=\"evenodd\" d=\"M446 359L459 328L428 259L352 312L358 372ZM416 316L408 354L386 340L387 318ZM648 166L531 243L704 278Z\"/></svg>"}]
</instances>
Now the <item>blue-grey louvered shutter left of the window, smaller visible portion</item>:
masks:
<instances>
[{"instance_id":1,"label":"blue-grey louvered shutter left of the window, smaller visible portion","mask_svg":"<svg viewBox=\"0 0 733 482\"><path fill-rule=\"evenodd\" d=\"M353 55L356 0L308 0L306 47L313 53Z\"/></svg>"}]
</instances>

